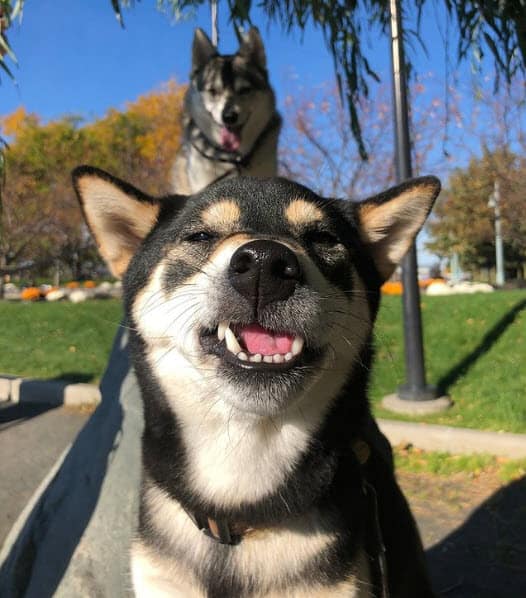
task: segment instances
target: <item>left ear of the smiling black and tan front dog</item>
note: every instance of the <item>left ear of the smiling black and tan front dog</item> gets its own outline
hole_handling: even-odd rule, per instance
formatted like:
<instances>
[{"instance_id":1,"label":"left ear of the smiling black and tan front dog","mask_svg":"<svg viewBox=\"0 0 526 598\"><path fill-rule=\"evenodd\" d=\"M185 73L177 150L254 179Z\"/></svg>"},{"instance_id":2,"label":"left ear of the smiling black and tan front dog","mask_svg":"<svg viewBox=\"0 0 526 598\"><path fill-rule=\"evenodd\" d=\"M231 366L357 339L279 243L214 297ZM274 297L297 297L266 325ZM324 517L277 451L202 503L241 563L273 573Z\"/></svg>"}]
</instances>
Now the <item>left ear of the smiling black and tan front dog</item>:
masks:
<instances>
[{"instance_id":1,"label":"left ear of the smiling black and tan front dog","mask_svg":"<svg viewBox=\"0 0 526 598\"><path fill-rule=\"evenodd\" d=\"M160 202L91 166L75 168L72 178L100 254L120 278L157 221Z\"/></svg>"}]
</instances>

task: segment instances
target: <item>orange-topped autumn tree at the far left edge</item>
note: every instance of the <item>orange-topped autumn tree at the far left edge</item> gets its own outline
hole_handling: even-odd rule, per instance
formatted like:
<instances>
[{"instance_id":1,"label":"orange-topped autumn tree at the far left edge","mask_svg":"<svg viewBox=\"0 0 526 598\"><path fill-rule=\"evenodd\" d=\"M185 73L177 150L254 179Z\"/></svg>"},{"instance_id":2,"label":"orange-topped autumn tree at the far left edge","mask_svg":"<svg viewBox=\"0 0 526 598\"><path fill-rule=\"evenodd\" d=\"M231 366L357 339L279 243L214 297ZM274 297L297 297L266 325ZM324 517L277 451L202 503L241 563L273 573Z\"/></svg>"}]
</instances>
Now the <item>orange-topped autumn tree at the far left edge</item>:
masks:
<instances>
[{"instance_id":1,"label":"orange-topped autumn tree at the far left edge","mask_svg":"<svg viewBox=\"0 0 526 598\"><path fill-rule=\"evenodd\" d=\"M4 193L2 266L39 256L40 264L58 257L65 238L79 227L78 209L66 201L69 172L85 153L86 139L78 119L46 125L23 109L2 119L2 132L12 139L6 157L9 177Z\"/></svg>"}]
</instances>

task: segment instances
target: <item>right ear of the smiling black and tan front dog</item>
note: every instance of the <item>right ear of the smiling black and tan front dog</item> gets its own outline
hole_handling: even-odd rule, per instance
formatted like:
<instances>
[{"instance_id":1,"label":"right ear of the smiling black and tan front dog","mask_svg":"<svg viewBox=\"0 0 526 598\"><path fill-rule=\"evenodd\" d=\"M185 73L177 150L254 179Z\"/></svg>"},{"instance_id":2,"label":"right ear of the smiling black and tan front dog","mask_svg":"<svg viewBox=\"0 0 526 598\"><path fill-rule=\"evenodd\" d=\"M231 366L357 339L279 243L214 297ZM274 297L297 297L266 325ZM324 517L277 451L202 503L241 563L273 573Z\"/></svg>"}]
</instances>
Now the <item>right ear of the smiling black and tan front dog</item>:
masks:
<instances>
[{"instance_id":1,"label":"right ear of the smiling black and tan front dog","mask_svg":"<svg viewBox=\"0 0 526 598\"><path fill-rule=\"evenodd\" d=\"M440 192L432 176L412 179L357 204L358 226L376 269L387 280L422 228Z\"/></svg>"}]
</instances>

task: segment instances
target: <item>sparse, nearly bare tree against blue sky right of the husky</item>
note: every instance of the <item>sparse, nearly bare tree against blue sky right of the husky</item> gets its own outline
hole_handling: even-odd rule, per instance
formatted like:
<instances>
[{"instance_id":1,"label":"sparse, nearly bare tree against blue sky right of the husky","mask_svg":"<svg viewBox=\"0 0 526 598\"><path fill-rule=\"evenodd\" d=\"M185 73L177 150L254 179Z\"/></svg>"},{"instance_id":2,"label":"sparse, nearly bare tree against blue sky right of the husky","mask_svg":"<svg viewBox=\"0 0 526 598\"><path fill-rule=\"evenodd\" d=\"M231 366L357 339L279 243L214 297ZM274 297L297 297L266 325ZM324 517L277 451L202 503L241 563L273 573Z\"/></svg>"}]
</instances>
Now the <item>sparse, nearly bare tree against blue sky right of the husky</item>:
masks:
<instances>
[{"instance_id":1,"label":"sparse, nearly bare tree against blue sky right of the husky","mask_svg":"<svg viewBox=\"0 0 526 598\"><path fill-rule=\"evenodd\" d=\"M444 159L447 111L456 110L455 98L446 107L433 75L417 77L413 98L412 161L415 174L440 172ZM336 87L299 88L285 98L280 169L322 195L363 198L395 182L391 102L389 90L379 87L374 98L360 104L367 130L367 161L361 160L350 129L349 115Z\"/></svg>"}]
</instances>

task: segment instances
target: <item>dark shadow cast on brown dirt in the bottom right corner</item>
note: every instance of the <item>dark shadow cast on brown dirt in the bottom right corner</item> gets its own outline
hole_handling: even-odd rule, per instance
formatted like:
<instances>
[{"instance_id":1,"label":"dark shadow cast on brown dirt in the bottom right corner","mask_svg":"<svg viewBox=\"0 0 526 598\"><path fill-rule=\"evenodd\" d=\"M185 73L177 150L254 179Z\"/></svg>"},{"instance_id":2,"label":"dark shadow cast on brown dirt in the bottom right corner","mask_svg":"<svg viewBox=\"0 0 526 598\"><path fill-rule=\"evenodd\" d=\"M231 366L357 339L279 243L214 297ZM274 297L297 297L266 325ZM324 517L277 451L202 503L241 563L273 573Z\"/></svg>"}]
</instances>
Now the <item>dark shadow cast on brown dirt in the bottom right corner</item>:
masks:
<instances>
[{"instance_id":1,"label":"dark shadow cast on brown dirt in the bottom right corner","mask_svg":"<svg viewBox=\"0 0 526 598\"><path fill-rule=\"evenodd\" d=\"M498 490L427 551L435 591L445 598L524 596L526 477Z\"/></svg>"}]
</instances>

